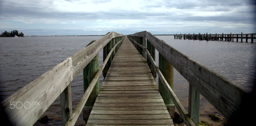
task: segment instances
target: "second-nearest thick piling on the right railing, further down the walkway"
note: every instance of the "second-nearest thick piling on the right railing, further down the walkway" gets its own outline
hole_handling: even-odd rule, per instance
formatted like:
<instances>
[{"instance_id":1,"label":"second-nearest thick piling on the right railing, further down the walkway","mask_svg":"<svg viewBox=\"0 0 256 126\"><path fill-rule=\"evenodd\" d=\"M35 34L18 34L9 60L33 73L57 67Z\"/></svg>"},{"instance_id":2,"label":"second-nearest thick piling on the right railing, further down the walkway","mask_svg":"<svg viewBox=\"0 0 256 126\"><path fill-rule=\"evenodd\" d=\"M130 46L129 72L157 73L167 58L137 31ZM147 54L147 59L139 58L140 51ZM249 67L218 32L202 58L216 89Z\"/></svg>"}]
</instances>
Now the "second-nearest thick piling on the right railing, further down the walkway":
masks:
<instances>
[{"instance_id":1,"label":"second-nearest thick piling on the right railing, further down the walkway","mask_svg":"<svg viewBox=\"0 0 256 126\"><path fill-rule=\"evenodd\" d=\"M151 56L153 57L153 59L156 61L156 49L155 47L153 47L153 45L151 45L150 41L148 41L147 39L147 49L149 51L149 53L151 54ZM151 69L151 73L153 75L154 78L156 78L156 70L154 69L153 64L151 63L148 55L147 55L147 63L149 68Z\"/></svg>"}]
</instances>

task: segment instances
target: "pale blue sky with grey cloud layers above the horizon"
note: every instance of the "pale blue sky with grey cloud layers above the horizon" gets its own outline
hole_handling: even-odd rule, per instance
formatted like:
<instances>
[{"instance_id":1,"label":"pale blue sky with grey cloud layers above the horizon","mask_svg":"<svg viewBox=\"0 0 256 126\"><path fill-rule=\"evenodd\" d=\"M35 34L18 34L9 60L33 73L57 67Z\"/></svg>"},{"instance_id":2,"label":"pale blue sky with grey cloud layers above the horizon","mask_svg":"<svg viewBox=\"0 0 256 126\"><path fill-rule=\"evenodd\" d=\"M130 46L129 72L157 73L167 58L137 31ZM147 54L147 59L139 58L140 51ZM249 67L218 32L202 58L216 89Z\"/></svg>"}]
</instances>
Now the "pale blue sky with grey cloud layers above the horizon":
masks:
<instances>
[{"instance_id":1,"label":"pale blue sky with grey cloud layers above the horizon","mask_svg":"<svg viewBox=\"0 0 256 126\"><path fill-rule=\"evenodd\" d=\"M0 0L0 33L256 33L255 0Z\"/></svg>"}]
</instances>

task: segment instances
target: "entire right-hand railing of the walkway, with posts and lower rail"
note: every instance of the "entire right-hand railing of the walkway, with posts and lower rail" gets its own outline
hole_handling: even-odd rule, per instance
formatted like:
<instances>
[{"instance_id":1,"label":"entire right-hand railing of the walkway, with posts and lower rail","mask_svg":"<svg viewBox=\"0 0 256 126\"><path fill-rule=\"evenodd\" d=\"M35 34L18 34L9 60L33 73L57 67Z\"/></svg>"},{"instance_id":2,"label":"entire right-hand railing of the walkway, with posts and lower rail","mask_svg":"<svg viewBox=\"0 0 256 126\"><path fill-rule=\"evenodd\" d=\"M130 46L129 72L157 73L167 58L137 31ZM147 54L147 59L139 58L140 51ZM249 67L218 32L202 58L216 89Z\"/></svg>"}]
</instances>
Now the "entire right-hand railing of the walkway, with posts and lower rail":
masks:
<instances>
[{"instance_id":1,"label":"entire right-hand railing of the walkway, with posts and lower rail","mask_svg":"<svg viewBox=\"0 0 256 126\"><path fill-rule=\"evenodd\" d=\"M153 76L156 77L156 73L158 74L159 92L165 104L172 103L164 98L170 97L186 125L198 125L200 94L228 120L237 116L236 113L241 109L242 97L248 93L244 88L147 31L130 34L127 37L148 61ZM159 52L159 67L155 63L155 49ZM173 67L189 82L188 112L172 90Z\"/></svg>"}]
</instances>

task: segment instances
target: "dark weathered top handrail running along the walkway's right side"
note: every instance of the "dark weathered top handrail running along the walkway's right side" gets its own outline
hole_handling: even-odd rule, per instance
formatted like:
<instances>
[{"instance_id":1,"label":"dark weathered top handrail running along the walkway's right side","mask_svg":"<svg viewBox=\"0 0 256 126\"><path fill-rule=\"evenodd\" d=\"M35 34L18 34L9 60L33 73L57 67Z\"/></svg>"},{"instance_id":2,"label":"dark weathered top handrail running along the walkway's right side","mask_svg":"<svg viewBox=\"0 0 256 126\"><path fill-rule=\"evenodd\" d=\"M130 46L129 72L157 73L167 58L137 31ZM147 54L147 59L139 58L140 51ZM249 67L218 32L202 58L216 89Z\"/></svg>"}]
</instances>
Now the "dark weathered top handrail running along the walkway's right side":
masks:
<instances>
[{"instance_id":1,"label":"dark weathered top handrail running along the walkway's right side","mask_svg":"<svg viewBox=\"0 0 256 126\"><path fill-rule=\"evenodd\" d=\"M228 120L231 120L239 111L243 96L248 93L243 87L191 59L147 31L127 36L146 37L158 52L188 80L189 84ZM168 88L166 90L168 91Z\"/></svg>"}]
</instances>

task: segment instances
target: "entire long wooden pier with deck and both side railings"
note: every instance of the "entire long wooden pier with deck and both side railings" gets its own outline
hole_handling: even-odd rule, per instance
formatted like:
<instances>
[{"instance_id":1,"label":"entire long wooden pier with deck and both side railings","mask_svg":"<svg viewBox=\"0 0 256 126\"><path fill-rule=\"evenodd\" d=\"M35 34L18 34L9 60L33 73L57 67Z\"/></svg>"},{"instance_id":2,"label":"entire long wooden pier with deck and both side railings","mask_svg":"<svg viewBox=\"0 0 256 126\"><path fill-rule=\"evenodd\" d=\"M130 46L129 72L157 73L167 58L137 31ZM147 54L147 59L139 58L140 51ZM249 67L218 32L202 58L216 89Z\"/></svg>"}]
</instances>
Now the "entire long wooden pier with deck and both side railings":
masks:
<instances>
[{"instance_id":1,"label":"entire long wooden pier with deck and both side railings","mask_svg":"<svg viewBox=\"0 0 256 126\"><path fill-rule=\"evenodd\" d=\"M101 49L103 64L99 68ZM155 63L156 50L159 66ZM188 112L172 90L174 68L189 82ZM70 83L82 70L84 95L73 111ZM104 81L99 89L101 73ZM33 125L60 96L62 125L75 125L81 112L86 125L174 125L176 107L185 124L194 126L198 125L200 94L225 118L234 120L243 110L242 100L248 91L147 31L130 35L110 32L1 105L13 125ZM32 101L40 105L25 104Z\"/></svg>"}]
</instances>

